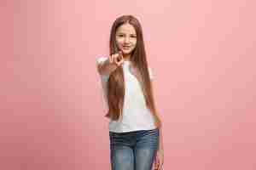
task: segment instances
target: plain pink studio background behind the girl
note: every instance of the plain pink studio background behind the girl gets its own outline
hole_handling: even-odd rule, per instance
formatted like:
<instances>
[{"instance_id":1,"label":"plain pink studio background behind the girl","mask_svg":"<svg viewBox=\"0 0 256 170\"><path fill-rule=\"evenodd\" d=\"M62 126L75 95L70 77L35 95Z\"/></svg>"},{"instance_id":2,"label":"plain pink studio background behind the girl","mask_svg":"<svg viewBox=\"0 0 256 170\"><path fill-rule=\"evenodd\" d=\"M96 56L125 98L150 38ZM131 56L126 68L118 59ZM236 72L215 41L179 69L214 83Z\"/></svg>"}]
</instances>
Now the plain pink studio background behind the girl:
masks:
<instances>
[{"instance_id":1,"label":"plain pink studio background behind the girl","mask_svg":"<svg viewBox=\"0 0 256 170\"><path fill-rule=\"evenodd\" d=\"M143 26L165 169L256 169L255 6L1 1L1 169L109 169L96 59L121 14Z\"/></svg>"}]
</instances>

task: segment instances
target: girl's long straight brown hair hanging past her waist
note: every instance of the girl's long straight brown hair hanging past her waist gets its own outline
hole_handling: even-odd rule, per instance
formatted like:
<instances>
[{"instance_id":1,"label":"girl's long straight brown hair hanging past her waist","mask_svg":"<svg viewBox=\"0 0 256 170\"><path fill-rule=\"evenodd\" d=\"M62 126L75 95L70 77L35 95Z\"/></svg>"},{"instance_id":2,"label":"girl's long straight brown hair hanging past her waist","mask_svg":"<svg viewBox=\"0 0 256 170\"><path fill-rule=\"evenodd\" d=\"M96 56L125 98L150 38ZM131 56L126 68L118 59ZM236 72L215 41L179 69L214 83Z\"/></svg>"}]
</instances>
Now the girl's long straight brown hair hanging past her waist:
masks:
<instances>
[{"instance_id":1,"label":"girl's long straight brown hair hanging past her waist","mask_svg":"<svg viewBox=\"0 0 256 170\"><path fill-rule=\"evenodd\" d=\"M148 106L148 109L153 113L154 124L156 127L161 127L160 117L156 111L154 104L153 89L148 72L148 62L143 41L143 30L139 21L134 16L123 15L113 22L110 33L109 52L110 54L115 54L118 52L115 34L119 26L122 26L125 23L129 23L136 30L137 44L136 48L132 51L131 54L131 64L134 65L134 67L138 71L138 74L141 77L141 79L139 79L139 82L143 89L144 98L146 99L146 105ZM106 114L106 116L116 121L122 117L125 98L125 79L122 66L119 66L109 76L107 89L108 113Z\"/></svg>"}]
</instances>

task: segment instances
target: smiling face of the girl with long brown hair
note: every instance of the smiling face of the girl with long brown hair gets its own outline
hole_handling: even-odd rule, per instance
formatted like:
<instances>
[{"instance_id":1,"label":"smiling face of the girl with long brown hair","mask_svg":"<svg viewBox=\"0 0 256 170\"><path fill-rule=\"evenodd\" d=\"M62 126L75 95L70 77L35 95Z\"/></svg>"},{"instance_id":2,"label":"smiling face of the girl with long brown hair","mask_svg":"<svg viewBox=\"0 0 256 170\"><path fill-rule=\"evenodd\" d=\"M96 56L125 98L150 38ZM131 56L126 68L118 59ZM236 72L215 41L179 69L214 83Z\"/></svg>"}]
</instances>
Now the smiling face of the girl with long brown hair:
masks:
<instances>
[{"instance_id":1,"label":"smiling face of the girl with long brown hair","mask_svg":"<svg viewBox=\"0 0 256 170\"><path fill-rule=\"evenodd\" d=\"M115 34L115 40L123 54L131 54L137 44L137 34L134 27L129 23L119 26Z\"/></svg>"}]
</instances>

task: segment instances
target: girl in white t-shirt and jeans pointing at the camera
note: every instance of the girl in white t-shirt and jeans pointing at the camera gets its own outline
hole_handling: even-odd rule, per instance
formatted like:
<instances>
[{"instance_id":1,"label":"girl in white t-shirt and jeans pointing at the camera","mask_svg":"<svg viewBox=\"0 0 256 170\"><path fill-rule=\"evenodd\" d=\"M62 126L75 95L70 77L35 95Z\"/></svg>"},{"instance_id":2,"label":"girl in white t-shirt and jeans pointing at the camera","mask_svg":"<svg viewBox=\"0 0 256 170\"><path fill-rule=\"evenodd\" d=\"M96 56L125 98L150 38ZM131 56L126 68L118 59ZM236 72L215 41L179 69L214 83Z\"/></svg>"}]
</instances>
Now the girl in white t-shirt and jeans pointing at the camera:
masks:
<instances>
[{"instance_id":1,"label":"girl in white t-shirt and jeans pointing at the camera","mask_svg":"<svg viewBox=\"0 0 256 170\"><path fill-rule=\"evenodd\" d=\"M161 170L164 149L154 105L154 76L142 26L134 16L123 15L113 22L109 49L109 56L96 63L108 104L112 170Z\"/></svg>"}]
</instances>

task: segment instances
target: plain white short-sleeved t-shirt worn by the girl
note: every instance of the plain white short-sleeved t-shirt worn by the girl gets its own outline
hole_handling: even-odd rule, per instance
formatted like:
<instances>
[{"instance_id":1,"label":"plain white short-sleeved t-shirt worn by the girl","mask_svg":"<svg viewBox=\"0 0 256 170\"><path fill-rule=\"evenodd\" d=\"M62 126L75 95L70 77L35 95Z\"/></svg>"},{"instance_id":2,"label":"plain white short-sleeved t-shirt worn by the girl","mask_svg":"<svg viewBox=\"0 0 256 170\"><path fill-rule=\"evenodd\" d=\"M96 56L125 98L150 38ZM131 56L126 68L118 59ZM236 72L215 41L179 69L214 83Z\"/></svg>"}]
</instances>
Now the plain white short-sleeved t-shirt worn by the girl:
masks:
<instances>
[{"instance_id":1,"label":"plain white short-sleeved t-shirt worn by the girl","mask_svg":"<svg viewBox=\"0 0 256 170\"><path fill-rule=\"evenodd\" d=\"M100 57L96 60L97 64L106 61L108 57ZM154 125L154 116L146 105L146 100L143 96L143 90L140 83L137 81L137 77L131 74L129 69L130 61L124 61L122 67L125 78L125 100L123 108L123 119L119 121L109 121L109 131L114 133L125 133L138 130L152 130ZM148 68L150 79L153 79L153 74ZM104 94L104 100L108 106L107 99L107 83L108 77L106 75L100 75L102 81L102 89Z\"/></svg>"}]
</instances>

